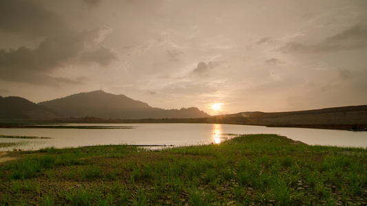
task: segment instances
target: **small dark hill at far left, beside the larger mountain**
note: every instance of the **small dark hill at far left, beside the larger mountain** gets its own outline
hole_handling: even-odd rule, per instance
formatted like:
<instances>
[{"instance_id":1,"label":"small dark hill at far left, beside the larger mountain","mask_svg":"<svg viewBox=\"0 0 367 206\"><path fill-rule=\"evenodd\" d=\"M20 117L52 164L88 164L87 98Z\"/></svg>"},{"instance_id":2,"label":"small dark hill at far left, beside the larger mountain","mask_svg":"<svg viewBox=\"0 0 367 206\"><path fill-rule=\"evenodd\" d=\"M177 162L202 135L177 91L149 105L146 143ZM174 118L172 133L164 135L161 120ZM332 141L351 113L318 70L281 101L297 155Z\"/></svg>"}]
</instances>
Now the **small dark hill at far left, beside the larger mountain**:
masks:
<instances>
[{"instance_id":1,"label":"small dark hill at far left, beside the larger mountain","mask_svg":"<svg viewBox=\"0 0 367 206\"><path fill-rule=\"evenodd\" d=\"M58 117L55 111L19 97L0 96L0 119L52 119Z\"/></svg>"}]
</instances>

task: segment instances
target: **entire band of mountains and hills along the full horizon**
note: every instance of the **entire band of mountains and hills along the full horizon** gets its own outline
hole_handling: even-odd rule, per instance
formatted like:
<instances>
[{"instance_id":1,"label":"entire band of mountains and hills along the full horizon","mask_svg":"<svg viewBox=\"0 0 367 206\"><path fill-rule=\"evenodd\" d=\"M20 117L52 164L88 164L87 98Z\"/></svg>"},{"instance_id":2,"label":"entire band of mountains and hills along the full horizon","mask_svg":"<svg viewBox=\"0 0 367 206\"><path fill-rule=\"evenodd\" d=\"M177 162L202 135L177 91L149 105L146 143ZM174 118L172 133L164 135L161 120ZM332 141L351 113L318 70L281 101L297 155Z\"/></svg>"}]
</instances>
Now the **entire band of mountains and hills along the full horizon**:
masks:
<instances>
[{"instance_id":1,"label":"entire band of mountains and hills along the full horizon","mask_svg":"<svg viewBox=\"0 0 367 206\"><path fill-rule=\"evenodd\" d=\"M367 105L277 113L242 112L210 116L196 107L165 110L104 91L78 93L34 104L19 97L0 96L0 120L104 123L214 123L277 127L348 129L367 125Z\"/></svg>"}]
</instances>

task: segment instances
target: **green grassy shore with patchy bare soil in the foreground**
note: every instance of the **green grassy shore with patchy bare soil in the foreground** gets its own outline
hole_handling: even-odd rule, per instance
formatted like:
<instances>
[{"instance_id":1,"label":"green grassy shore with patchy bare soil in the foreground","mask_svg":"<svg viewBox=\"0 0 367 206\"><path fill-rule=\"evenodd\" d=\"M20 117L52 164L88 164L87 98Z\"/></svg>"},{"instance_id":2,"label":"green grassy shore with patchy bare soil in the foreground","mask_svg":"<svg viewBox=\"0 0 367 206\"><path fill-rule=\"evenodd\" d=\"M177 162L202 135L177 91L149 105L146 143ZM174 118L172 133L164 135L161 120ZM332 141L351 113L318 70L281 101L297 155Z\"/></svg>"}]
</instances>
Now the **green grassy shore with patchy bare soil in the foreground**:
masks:
<instances>
[{"instance_id":1,"label":"green grassy shore with patchy bare soil in the foreground","mask_svg":"<svg viewBox=\"0 0 367 206\"><path fill-rule=\"evenodd\" d=\"M277 135L146 151L136 146L12 152L0 205L366 205L365 148Z\"/></svg>"}]
</instances>

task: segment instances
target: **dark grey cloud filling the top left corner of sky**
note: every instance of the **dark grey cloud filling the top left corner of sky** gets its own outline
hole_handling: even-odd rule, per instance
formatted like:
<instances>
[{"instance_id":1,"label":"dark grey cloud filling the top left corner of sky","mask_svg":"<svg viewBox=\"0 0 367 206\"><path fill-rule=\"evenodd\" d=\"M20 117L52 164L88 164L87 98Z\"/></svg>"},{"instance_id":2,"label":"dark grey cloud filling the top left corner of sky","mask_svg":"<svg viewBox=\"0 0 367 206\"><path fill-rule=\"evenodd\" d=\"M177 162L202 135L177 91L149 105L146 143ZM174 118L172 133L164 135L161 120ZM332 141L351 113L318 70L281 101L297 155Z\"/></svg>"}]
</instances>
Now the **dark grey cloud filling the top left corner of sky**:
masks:
<instances>
[{"instance_id":1,"label":"dark grey cloud filling the top left corner of sky","mask_svg":"<svg viewBox=\"0 0 367 206\"><path fill-rule=\"evenodd\" d=\"M61 16L27 0L0 1L0 31L27 36L50 36L68 29Z\"/></svg>"}]
</instances>

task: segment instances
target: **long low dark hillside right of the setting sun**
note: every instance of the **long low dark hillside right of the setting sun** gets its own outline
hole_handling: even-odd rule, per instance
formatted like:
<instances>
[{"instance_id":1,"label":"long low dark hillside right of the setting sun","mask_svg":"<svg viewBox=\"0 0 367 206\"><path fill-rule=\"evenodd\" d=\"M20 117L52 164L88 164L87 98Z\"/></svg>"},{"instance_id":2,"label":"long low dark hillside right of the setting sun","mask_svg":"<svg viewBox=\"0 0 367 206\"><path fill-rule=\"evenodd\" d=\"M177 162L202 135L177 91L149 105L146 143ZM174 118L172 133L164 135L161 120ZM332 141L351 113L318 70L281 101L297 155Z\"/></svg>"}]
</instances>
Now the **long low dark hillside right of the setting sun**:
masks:
<instances>
[{"instance_id":1,"label":"long low dark hillside right of the setting sun","mask_svg":"<svg viewBox=\"0 0 367 206\"><path fill-rule=\"evenodd\" d=\"M277 113L243 112L232 115L219 115L203 120L207 123L222 124L347 129L353 124L366 126L367 105Z\"/></svg>"}]
</instances>

